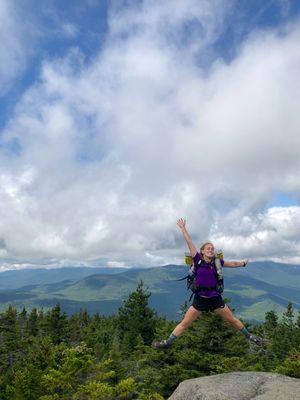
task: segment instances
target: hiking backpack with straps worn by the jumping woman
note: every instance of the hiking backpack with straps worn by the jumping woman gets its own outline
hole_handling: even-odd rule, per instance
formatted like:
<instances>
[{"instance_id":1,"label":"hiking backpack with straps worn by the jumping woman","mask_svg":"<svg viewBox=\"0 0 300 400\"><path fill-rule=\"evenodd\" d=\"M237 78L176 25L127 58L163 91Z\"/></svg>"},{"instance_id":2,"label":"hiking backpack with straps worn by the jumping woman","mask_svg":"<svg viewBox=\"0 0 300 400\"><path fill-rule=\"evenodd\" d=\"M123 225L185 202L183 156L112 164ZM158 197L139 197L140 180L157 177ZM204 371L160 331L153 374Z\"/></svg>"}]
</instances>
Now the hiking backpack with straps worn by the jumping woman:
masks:
<instances>
[{"instance_id":1,"label":"hiking backpack with straps worn by the jumping woman","mask_svg":"<svg viewBox=\"0 0 300 400\"><path fill-rule=\"evenodd\" d=\"M216 252L216 256L214 259L217 285L211 286L211 287L206 287L206 286L198 285L195 282L196 281L196 271L197 271L197 268L201 267L202 259L199 260L197 266L194 266L194 265L190 264L191 257L189 258L187 255L185 255L185 260L186 261L189 260L189 263L188 263L188 265L190 265L189 273L185 277L177 279L177 281L183 281L186 279L187 290L192 291L189 301L191 301L192 297L198 292L217 290L220 294L223 293L224 280L223 280L223 270L222 270L221 259L223 259L223 252L221 250L218 250Z\"/></svg>"}]
</instances>

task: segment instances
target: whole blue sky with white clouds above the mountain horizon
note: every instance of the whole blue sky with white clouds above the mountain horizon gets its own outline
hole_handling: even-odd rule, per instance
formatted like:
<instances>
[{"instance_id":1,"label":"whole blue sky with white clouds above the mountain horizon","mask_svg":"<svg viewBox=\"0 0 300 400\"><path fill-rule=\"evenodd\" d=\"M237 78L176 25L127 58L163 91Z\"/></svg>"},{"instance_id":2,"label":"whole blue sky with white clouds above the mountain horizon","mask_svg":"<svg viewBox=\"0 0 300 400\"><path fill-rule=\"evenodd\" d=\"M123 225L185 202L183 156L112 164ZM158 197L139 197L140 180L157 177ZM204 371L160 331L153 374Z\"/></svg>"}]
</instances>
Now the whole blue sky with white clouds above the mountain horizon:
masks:
<instances>
[{"instance_id":1,"label":"whole blue sky with white clouds above the mountain horizon","mask_svg":"<svg viewBox=\"0 0 300 400\"><path fill-rule=\"evenodd\" d=\"M300 264L300 2L0 0L0 271Z\"/></svg>"}]
</instances>

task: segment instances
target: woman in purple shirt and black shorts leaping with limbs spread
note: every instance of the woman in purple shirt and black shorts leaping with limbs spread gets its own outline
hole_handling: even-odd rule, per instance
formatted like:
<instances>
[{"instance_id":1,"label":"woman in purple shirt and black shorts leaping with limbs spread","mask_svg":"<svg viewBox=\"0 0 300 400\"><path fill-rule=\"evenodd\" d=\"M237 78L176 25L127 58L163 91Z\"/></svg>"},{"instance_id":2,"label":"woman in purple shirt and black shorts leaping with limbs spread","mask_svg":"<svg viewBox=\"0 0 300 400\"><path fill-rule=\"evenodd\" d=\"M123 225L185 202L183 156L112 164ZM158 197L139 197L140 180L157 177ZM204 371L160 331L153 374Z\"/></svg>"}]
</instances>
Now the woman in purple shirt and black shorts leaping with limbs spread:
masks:
<instances>
[{"instance_id":1,"label":"woman in purple shirt and black shorts leaping with limbs spread","mask_svg":"<svg viewBox=\"0 0 300 400\"><path fill-rule=\"evenodd\" d=\"M222 317L225 321L229 322L235 329L240 331L245 338L252 343L257 345L262 344L262 339L251 334L244 324L237 319L230 308L224 303L221 294L218 292L218 278L215 266L215 254L214 246L212 243L207 242L200 248L198 253L188 231L186 230L186 222L184 219L179 219L177 225L181 229L181 232L187 242L191 256L194 260L194 268L196 271L195 281L201 289L197 291L194 296L193 304L187 310L183 320L176 326L171 335L167 340L155 342L153 344L157 349L169 348L175 339L181 335L191 324L195 321L202 312L213 311ZM201 265L199 267L199 261ZM246 261L223 261L221 260L223 267L245 267L248 263Z\"/></svg>"}]
</instances>

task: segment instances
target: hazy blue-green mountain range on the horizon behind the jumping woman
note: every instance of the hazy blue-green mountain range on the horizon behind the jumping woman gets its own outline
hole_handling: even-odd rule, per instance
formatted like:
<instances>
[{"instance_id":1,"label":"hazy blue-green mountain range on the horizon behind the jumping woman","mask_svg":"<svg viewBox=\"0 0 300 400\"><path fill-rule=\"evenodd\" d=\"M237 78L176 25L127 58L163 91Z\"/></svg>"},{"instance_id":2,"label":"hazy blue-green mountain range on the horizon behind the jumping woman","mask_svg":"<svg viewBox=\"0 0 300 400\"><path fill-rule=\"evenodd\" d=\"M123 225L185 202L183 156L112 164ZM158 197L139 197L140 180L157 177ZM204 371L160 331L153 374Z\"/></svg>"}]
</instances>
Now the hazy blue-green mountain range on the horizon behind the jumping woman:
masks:
<instances>
[{"instance_id":1,"label":"hazy blue-green mountain range on the horizon behind the jumping woman","mask_svg":"<svg viewBox=\"0 0 300 400\"><path fill-rule=\"evenodd\" d=\"M48 308L59 302L68 314L87 308L109 315L143 280L158 314L179 319L190 292L185 282L176 279L186 271L186 266L178 265L125 271L85 267L7 271L0 274L0 307ZM300 310L300 266L253 262L246 268L226 268L224 276L224 297L231 299L230 306L245 320L261 321L270 309L281 313L289 301Z\"/></svg>"}]
</instances>

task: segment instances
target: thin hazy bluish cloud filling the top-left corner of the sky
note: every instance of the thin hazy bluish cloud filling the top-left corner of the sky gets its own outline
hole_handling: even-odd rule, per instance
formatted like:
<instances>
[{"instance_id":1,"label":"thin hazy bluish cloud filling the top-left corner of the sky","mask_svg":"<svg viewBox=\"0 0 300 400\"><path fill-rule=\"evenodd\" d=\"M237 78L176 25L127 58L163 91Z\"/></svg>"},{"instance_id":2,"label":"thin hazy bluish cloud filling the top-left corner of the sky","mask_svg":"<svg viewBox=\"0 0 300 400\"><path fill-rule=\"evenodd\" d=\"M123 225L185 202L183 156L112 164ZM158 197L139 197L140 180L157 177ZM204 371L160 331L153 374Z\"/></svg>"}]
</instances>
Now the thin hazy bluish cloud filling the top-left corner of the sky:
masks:
<instances>
[{"instance_id":1,"label":"thin hazy bluish cloud filling the top-left corner of the sky","mask_svg":"<svg viewBox=\"0 0 300 400\"><path fill-rule=\"evenodd\" d=\"M29 0L1 0L0 2L0 96L20 83L22 74L28 73L30 61L39 52L48 52L45 42L60 38L75 38L78 35L76 24L60 18L55 5L42 7ZM31 66L32 68L32 66Z\"/></svg>"}]
</instances>

